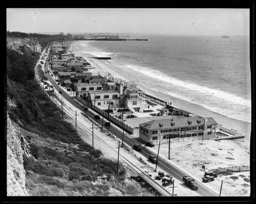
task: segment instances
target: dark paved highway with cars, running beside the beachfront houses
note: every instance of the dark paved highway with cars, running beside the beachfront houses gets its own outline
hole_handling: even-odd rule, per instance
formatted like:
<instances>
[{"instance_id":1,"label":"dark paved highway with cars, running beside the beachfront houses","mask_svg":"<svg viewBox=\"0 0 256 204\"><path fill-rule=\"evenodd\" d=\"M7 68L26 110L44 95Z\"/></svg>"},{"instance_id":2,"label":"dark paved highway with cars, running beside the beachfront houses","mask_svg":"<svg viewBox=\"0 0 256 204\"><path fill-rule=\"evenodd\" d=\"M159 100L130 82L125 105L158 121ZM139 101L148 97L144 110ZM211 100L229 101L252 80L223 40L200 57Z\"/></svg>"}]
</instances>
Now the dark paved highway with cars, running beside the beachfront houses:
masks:
<instances>
[{"instance_id":1,"label":"dark paved highway with cars, running beside the beachfront houses","mask_svg":"<svg viewBox=\"0 0 256 204\"><path fill-rule=\"evenodd\" d=\"M49 59L49 56L48 56ZM48 61L46 62L46 66L44 66L45 71L48 70ZM51 84L53 85L54 89L57 90L57 92L59 90L62 90L59 85L56 84L56 82L52 79L51 74L50 73L45 73L48 81L51 82ZM95 112L92 111L90 108L88 109L88 111L83 111L84 106L81 105L81 103L75 98L70 96L68 93L66 93L65 91L62 92L61 94L66 100L69 101L70 104L72 104L74 107L76 107L77 109L79 109L81 112L83 112L84 114L86 114L88 117L90 117L93 121L95 121L95 123L97 123L99 126L102 125L102 116L100 117L100 119L95 119ZM104 122L103 122L104 123ZM108 132L110 132L111 134L115 135L117 138L119 138L120 140L122 140L123 138L123 143L125 143L126 145L133 147L134 143L139 143L140 147L142 148L142 151L140 151L140 154L143 155L144 157L148 158L148 155L153 154L155 156L157 156L153 151L151 151L151 147L145 147L144 144L133 137L130 137L129 135L123 134L123 131L120 130L119 128L115 127L115 125L113 125L113 123L111 123L111 127L107 127L104 126L104 129ZM123 137L122 137L123 135ZM182 182L182 177L187 175L186 173L184 173L182 170L176 168L175 166L173 166L172 164L170 164L168 161L166 161L165 159L158 157L158 167L161 168L163 171L165 171L167 174L170 174L173 176L173 178L175 180ZM193 177L193 175L191 175L191 177ZM211 191L210 189L208 189L207 187L203 186L201 184L201 181L196 181L197 182L197 186L198 186L198 190L195 191L196 193L198 193L199 196L218 196L216 193L214 193L213 191ZM184 188L187 188L187 190L191 190L190 188L188 188L187 186L185 186L183 184Z\"/></svg>"}]
</instances>

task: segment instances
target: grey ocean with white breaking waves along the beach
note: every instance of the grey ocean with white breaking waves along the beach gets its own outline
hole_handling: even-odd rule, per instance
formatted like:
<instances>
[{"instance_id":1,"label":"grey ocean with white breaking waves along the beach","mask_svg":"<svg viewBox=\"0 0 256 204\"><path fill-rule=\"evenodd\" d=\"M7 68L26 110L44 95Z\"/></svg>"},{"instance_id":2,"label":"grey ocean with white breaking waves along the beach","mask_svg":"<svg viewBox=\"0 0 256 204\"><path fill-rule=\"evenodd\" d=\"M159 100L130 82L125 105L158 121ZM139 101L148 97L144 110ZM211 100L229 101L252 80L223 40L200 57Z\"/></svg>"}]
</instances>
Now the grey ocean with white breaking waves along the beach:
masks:
<instances>
[{"instance_id":1,"label":"grey ocean with white breaking waves along the beach","mask_svg":"<svg viewBox=\"0 0 256 204\"><path fill-rule=\"evenodd\" d=\"M251 122L248 36L130 34L127 39L147 41L80 41L79 52L111 57L103 62L147 88Z\"/></svg>"}]
</instances>

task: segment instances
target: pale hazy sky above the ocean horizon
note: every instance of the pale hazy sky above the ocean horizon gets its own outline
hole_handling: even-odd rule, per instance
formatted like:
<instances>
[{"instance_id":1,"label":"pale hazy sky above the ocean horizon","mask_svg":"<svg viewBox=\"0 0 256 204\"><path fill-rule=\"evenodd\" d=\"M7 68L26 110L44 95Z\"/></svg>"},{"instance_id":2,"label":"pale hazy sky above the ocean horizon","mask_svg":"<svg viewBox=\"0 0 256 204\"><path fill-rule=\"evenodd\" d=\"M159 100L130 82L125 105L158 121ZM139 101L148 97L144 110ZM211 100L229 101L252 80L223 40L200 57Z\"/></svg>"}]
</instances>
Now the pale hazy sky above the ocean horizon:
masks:
<instances>
[{"instance_id":1,"label":"pale hazy sky above the ocean horizon","mask_svg":"<svg viewBox=\"0 0 256 204\"><path fill-rule=\"evenodd\" d=\"M249 9L7 8L7 31L249 35Z\"/></svg>"}]
</instances>

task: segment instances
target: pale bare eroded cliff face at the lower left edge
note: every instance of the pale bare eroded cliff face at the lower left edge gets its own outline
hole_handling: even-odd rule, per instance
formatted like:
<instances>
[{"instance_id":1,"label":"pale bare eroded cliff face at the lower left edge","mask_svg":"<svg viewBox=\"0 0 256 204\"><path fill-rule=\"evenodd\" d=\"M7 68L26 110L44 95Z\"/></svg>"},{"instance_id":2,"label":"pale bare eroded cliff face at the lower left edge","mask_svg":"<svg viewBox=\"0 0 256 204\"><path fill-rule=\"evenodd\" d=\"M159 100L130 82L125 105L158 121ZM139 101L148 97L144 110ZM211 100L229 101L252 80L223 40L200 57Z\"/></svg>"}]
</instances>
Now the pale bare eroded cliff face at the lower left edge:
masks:
<instances>
[{"instance_id":1,"label":"pale bare eroded cliff face at the lower left edge","mask_svg":"<svg viewBox=\"0 0 256 204\"><path fill-rule=\"evenodd\" d=\"M18 125L7 115L7 196L28 195L23 154L31 157L28 143Z\"/></svg>"}]
</instances>

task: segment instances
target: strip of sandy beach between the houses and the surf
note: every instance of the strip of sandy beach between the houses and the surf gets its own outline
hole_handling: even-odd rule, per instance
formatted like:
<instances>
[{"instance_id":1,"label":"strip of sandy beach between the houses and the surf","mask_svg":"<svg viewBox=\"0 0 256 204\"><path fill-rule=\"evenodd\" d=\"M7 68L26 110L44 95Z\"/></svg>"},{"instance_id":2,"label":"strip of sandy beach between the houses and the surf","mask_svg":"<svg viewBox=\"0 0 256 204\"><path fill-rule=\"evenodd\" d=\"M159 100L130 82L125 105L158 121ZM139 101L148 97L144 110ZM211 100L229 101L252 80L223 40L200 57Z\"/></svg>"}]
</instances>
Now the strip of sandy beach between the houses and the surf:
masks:
<instances>
[{"instance_id":1,"label":"strip of sandy beach between the houses and the surf","mask_svg":"<svg viewBox=\"0 0 256 204\"><path fill-rule=\"evenodd\" d=\"M94 55L79 52L79 50L81 50L79 48L79 46L80 46L79 41L74 41L74 42L70 41L70 43L68 43L68 44L69 44L69 49L68 50L72 51L75 54L75 56L82 56L93 67L95 67L90 72L93 72L93 73L100 72L100 74L102 74L102 75L110 72L114 78L120 78L120 79L123 79L127 82L134 81L134 80L126 79L125 77L122 76L122 74L118 73L118 71L116 69L114 69L113 67L111 67L111 65L105 63L104 61L89 58L89 57L95 57ZM157 98L161 98L163 100L171 102L172 106L174 106L176 108L183 109L185 111L188 111L188 112L193 113L195 115L199 115L201 117L212 117L212 118L214 118L218 123L222 124L223 126L245 134L245 142L247 143L247 145L250 144L251 123L245 122L245 121L242 121L242 120L229 118L229 117L221 115L217 112L206 109L201 105L191 103L190 101L174 97L172 95L163 93L161 91L156 91L156 90L147 88L147 87L143 86L140 83L137 83L137 86L140 89L144 90L145 93L147 93L147 94L154 95Z\"/></svg>"}]
</instances>

